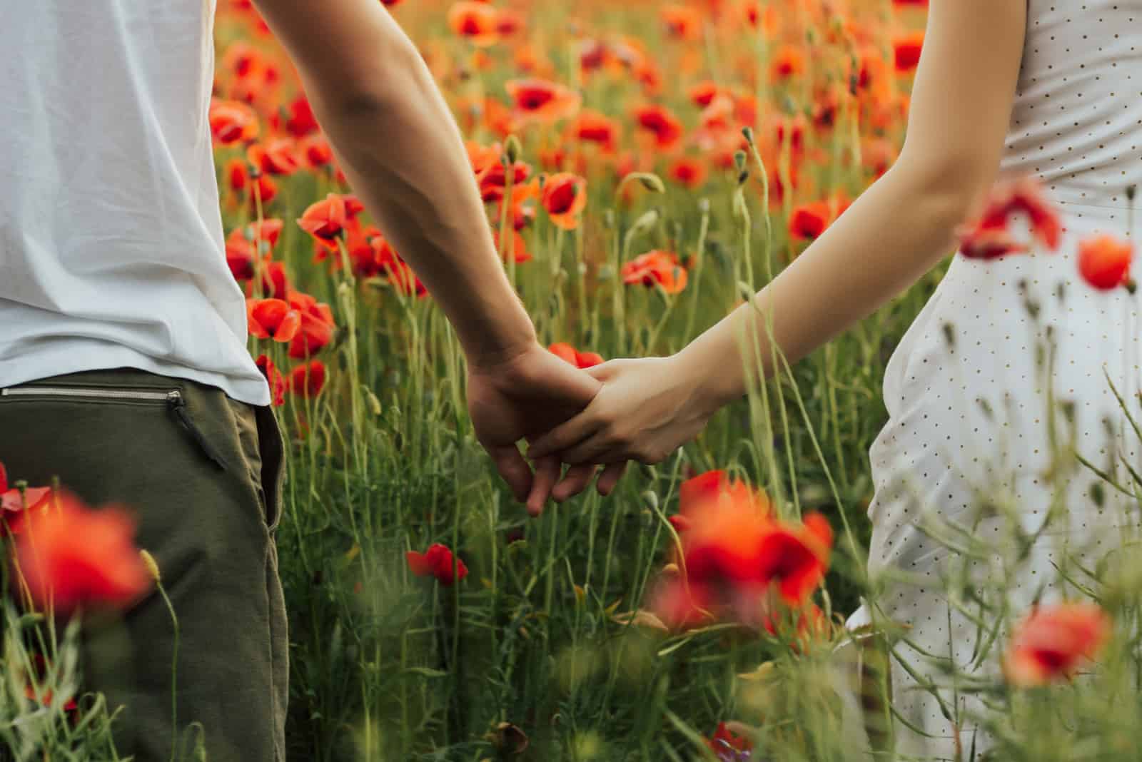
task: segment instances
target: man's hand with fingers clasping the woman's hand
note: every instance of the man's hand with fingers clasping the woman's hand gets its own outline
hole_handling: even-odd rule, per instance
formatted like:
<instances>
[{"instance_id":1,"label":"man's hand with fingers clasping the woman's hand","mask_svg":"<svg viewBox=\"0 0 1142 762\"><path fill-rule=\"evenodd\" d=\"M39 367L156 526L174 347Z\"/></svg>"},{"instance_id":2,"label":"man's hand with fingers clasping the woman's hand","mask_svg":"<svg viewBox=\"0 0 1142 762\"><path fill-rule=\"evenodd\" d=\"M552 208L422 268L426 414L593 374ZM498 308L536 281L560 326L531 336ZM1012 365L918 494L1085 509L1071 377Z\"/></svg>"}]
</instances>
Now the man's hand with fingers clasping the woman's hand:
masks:
<instances>
[{"instance_id":1,"label":"man's hand with fingers clasping the woman's hand","mask_svg":"<svg viewBox=\"0 0 1142 762\"><path fill-rule=\"evenodd\" d=\"M528 512L538 516L548 496L566 500L582 492L595 465L576 465L560 481L558 455L536 460L536 472L516 443L538 437L582 411L602 389L584 371L547 351L538 343L508 359L468 367L468 413L476 438L484 446L504 480ZM622 475L612 464L600 476L597 489L606 495ZM558 481L556 488L556 481Z\"/></svg>"}]
</instances>

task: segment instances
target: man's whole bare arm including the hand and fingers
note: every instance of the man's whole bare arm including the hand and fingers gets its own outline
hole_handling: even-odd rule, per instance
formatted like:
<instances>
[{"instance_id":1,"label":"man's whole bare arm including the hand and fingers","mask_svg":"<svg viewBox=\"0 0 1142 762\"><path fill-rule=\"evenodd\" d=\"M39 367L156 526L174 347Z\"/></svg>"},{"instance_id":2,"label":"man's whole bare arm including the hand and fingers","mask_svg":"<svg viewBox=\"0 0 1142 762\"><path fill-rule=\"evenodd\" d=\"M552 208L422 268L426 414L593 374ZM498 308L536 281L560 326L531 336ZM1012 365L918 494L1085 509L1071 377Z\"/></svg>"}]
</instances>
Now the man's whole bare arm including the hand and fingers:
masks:
<instances>
[{"instance_id":1,"label":"man's whole bare arm including the hand and fingers","mask_svg":"<svg viewBox=\"0 0 1142 762\"><path fill-rule=\"evenodd\" d=\"M448 315L468 358L476 436L538 513L558 478L515 443L581 410L601 384L536 341L493 243L459 128L432 74L378 0L257 0L297 66L345 176ZM593 467L572 469L560 498ZM601 477L609 492L619 471Z\"/></svg>"}]
</instances>

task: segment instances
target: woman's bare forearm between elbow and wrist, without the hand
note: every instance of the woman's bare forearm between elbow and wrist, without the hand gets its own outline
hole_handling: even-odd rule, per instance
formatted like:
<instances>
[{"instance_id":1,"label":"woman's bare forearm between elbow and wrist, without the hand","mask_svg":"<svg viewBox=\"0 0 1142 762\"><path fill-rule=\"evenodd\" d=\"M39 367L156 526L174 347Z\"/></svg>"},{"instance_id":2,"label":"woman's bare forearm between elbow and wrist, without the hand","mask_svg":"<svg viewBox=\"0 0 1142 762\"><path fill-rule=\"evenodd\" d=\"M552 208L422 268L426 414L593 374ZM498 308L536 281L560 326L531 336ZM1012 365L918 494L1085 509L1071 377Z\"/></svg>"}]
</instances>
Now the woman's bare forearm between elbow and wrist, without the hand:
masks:
<instances>
[{"instance_id":1,"label":"woman's bare forearm between elbow and wrist, without the hand","mask_svg":"<svg viewBox=\"0 0 1142 762\"><path fill-rule=\"evenodd\" d=\"M791 365L912 285L951 251L955 227L972 201L964 188L982 186L951 185L933 172L894 168L751 305L739 307L679 354L685 372L701 378L699 396L716 406L732 402L746 392L747 363L751 374L754 368L765 375L779 370L773 342ZM722 370L715 375L710 367Z\"/></svg>"}]
</instances>

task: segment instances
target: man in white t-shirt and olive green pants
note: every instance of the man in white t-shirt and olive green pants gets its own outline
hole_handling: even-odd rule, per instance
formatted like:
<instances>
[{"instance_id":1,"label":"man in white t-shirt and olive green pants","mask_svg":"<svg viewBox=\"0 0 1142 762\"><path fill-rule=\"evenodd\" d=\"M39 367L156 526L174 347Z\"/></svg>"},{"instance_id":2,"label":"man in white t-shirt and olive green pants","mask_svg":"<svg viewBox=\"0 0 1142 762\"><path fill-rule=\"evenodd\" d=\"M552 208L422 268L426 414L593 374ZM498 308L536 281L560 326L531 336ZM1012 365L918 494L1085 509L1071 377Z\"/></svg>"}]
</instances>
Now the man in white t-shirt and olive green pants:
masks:
<instances>
[{"instance_id":1,"label":"man in white t-shirt and olive green pants","mask_svg":"<svg viewBox=\"0 0 1142 762\"><path fill-rule=\"evenodd\" d=\"M356 194L456 326L473 423L515 496L556 485L516 441L600 383L547 352L504 276L459 131L377 0L259 0ZM179 616L179 724L217 762L284 756L281 439L225 262L208 107L212 2L0 6L0 462L126 503ZM600 477L608 493L619 477ZM85 646L126 705L119 752L170 755L171 623L151 597Z\"/></svg>"}]
</instances>

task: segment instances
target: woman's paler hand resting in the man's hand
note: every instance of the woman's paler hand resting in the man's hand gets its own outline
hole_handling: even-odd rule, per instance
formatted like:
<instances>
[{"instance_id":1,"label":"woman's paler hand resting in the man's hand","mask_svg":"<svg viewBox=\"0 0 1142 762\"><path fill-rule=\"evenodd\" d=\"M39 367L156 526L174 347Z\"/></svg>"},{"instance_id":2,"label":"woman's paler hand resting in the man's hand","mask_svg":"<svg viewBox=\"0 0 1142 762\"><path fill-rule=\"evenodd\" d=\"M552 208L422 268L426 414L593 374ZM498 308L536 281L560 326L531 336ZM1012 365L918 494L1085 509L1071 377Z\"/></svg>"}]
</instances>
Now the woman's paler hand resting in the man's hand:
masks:
<instances>
[{"instance_id":1,"label":"woman's paler hand resting in the man's hand","mask_svg":"<svg viewBox=\"0 0 1142 762\"><path fill-rule=\"evenodd\" d=\"M590 404L536 438L528 457L564 463L659 463L693 439L718 408L703 381L715 368L689 367L682 355L616 359L587 373L603 382ZM555 498L562 498L562 491Z\"/></svg>"}]
</instances>

